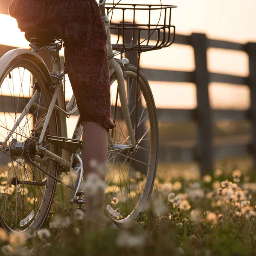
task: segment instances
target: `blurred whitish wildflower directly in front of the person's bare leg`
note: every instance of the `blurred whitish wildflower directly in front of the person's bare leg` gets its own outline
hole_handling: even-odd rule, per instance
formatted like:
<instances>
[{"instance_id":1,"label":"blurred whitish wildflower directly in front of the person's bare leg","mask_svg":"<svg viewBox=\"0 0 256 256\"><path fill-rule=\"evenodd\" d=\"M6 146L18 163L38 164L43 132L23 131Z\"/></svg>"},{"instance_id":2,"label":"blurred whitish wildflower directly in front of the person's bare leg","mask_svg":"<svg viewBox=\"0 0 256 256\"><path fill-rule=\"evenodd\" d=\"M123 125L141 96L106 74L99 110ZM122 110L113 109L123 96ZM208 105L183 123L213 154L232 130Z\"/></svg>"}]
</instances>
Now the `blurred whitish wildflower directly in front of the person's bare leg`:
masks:
<instances>
[{"instance_id":1,"label":"blurred whitish wildflower directly in front of the person's bare leg","mask_svg":"<svg viewBox=\"0 0 256 256\"><path fill-rule=\"evenodd\" d=\"M87 179L82 185L82 190L87 195L96 195L100 190L106 188L105 181L100 178L97 173L91 172L87 175Z\"/></svg>"}]
</instances>

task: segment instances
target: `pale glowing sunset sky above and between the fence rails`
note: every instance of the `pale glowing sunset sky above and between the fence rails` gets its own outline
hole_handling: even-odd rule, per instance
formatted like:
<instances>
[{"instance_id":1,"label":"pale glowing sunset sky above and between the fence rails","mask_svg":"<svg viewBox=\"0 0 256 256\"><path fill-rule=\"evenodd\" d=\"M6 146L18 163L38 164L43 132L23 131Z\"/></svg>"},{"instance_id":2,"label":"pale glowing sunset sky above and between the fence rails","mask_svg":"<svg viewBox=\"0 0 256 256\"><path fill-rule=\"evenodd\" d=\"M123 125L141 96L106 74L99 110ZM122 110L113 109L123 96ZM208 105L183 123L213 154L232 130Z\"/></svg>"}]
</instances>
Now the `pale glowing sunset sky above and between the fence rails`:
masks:
<instances>
[{"instance_id":1,"label":"pale glowing sunset sky above and between the fence rails","mask_svg":"<svg viewBox=\"0 0 256 256\"><path fill-rule=\"evenodd\" d=\"M134 0L121 1L121 3L135 2ZM160 0L140 0L140 3L156 4L160 3ZM201 32L212 39L239 43L256 42L256 0L243 2L238 0L162 0L162 3L177 5L177 8L172 10L172 24L176 26L177 34L190 35L192 32ZM120 16L116 13L114 17L118 20ZM157 15L154 17L158 19ZM143 21L143 15L140 21ZM15 19L0 15L0 22L5 24L0 25L0 34L8 35L0 37L0 44L28 47L23 33L17 29ZM173 44L166 49L143 53L141 66L193 71L195 69L193 54L192 47ZM248 76L248 56L244 52L209 48L207 58L207 67L210 72ZM150 86L158 108L196 107L195 84L150 81ZM209 84L212 108L247 109L250 106L249 93L248 88L242 85Z\"/></svg>"}]
</instances>

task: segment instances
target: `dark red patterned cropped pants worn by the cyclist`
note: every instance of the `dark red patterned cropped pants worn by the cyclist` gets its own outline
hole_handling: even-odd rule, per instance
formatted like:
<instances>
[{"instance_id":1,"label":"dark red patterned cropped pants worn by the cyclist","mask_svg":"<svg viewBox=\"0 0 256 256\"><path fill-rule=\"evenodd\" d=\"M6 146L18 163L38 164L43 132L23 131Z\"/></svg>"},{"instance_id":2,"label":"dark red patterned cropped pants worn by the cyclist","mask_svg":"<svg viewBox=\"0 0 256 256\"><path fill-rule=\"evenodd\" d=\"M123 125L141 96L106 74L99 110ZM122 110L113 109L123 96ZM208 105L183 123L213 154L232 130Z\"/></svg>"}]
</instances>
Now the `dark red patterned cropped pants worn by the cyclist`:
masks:
<instances>
[{"instance_id":1,"label":"dark red patterned cropped pants worn by the cyclist","mask_svg":"<svg viewBox=\"0 0 256 256\"><path fill-rule=\"evenodd\" d=\"M13 0L9 14L21 31L55 30L64 40L67 73L81 121L114 128L110 120L107 35L95 0Z\"/></svg>"}]
</instances>

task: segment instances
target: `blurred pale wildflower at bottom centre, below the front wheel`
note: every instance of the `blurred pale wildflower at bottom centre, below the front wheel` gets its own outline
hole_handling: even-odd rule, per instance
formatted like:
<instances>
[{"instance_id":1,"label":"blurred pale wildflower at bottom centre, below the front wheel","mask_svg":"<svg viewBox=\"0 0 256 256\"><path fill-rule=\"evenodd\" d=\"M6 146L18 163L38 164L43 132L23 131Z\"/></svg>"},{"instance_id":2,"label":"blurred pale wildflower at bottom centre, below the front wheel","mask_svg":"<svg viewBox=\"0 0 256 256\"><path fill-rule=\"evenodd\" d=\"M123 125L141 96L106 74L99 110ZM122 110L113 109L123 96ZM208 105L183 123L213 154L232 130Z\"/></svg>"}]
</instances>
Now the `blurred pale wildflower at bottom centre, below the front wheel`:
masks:
<instances>
[{"instance_id":1,"label":"blurred pale wildflower at bottom centre, below the front wheel","mask_svg":"<svg viewBox=\"0 0 256 256\"><path fill-rule=\"evenodd\" d=\"M128 231L124 231L116 239L116 244L119 247L142 247L145 244L145 236L133 235Z\"/></svg>"}]
</instances>

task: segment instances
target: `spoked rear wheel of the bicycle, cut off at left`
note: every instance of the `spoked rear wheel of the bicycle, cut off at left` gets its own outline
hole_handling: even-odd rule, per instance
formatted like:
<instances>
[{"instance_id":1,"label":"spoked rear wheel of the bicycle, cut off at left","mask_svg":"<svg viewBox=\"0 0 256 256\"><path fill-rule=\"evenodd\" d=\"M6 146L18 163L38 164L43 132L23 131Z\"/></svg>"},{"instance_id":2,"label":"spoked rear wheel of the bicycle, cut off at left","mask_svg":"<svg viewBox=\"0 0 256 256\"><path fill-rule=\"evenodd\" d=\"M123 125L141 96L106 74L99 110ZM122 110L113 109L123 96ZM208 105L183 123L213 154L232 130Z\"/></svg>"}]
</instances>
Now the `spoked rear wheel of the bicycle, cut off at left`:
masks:
<instances>
[{"instance_id":1,"label":"spoked rear wheel of the bicycle, cut off at left","mask_svg":"<svg viewBox=\"0 0 256 256\"><path fill-rule=\"evenodd\" d=\"M32 97L33 104L28 103ZM29 55L17 56L0 76L0 224L7 232L38 230L44 224L55 192L56 180L29 162L29 154L55 177L57 165L35 153L52 96L44 71ZM27 107L26 111L24 111ZM21 119L22 112L24 116ZM50 118L47 134L58 136L58 116ZM58 148L43 146L55 154Z\"/></svg>"}]
</instances>

